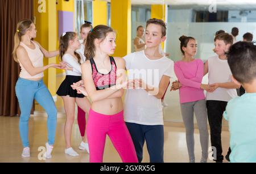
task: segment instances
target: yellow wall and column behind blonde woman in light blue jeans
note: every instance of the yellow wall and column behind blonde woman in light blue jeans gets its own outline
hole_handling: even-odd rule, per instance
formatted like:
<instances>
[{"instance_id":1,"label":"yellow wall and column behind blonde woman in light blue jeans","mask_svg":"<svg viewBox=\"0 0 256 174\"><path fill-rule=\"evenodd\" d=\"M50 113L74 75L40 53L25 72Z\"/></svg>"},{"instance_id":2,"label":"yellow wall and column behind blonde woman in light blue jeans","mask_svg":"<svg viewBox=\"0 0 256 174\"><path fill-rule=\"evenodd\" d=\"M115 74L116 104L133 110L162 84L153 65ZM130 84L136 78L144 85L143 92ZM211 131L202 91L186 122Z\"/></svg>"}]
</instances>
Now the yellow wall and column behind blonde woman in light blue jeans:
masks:
<instances>
[{"instance_id":1,"label":"yellow wall and column behind blonde woman in light blue jeans","mask_svg":"<svg viewBox=\"0 0 256 174\"><path fill-rule=\"evenodd\" d=\"M34 0L34 16L35 24L38 29L36 41L38 41L45 49L49 51L59 49L59 36L58 36L58 10L61 11L75 11L74 0L56 1L46 0L46 12L39 12L38 0ZM74 15L75 18L75 15ZM74 20L75 23L75 20ZM74 25L75 26L75 25ZM59 63L59 56L53 58L44 58L44 65L49 63ZM44 83L48 87L51 94L56 95L56 74L63 73L64 70L56 70L50 68L44 71Z\"/></svg>"}]
</instances>

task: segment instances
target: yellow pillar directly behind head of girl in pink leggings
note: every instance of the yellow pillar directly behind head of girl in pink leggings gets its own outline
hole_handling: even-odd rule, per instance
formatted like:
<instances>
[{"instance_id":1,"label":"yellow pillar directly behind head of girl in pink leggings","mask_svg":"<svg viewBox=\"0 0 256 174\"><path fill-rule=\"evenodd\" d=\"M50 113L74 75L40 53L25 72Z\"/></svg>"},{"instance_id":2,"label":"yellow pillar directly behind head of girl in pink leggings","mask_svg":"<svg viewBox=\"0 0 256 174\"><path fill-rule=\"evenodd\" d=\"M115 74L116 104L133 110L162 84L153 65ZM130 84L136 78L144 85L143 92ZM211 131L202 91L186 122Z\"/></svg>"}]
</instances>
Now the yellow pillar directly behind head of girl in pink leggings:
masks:
<instances>
[{"instance_id":1,"label":"yellow pillar directly behind head of girl in pink leggings","mask_svg":"<svg viewBox=\"0 0 256 174\"><path fill-rule=\"evenodd\" d=\"M131 52L131 0L111 1L111 27L117 32L114 56L126 56Z\"/></svg>"}]
</instances>

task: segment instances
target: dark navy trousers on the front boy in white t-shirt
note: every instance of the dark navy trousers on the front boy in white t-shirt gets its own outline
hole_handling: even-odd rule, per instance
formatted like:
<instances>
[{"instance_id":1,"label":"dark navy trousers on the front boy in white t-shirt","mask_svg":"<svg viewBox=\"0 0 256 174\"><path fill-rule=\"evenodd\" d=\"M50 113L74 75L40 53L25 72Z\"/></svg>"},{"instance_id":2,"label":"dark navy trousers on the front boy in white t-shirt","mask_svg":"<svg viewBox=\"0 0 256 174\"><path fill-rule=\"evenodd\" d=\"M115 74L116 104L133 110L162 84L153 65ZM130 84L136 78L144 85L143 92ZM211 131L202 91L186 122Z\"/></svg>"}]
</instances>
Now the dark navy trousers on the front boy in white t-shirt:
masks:
<instances>
[{"instance_id":1,"label":"dark navy trousers on the front boy in white t-shirt","mask_svg":"<svg viewBox=\"0 0 256 174\"><path fill-rule=\"evenodd\" d=\"M141 125L126 122L126 126L133 139L139 163L143 158L143 145L146 140L150 163L163 163L164 129L163 125Z\"/></svg>"}]
</instances>

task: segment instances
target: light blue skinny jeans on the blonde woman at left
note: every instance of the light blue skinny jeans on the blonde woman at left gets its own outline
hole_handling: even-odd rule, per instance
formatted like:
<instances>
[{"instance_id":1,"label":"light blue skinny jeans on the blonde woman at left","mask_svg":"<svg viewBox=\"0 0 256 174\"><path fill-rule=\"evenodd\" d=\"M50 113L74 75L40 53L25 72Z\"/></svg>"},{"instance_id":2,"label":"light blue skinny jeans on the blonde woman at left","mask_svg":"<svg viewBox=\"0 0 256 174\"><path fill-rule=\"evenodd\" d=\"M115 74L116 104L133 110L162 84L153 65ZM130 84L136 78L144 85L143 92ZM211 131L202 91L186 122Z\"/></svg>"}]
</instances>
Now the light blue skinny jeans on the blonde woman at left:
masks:
<instances>
[{"instance_id":1,"label":"light blue skinny jeans on the blonde woman at left","mask_svg":"<svg viewBox=\"0 0 256 174\"><path fill-rule=\"evenodd\" d=\"M53 145L55 142L57 109L53 98L44 84L43 80L32 81L19 78L15 86L16 96L19 100L20 119L19 132L23 147L29 147L28 142L28 120L34 99L46 110L48 114L47 130L48 143Z\"/></svg>"}]
</instances>

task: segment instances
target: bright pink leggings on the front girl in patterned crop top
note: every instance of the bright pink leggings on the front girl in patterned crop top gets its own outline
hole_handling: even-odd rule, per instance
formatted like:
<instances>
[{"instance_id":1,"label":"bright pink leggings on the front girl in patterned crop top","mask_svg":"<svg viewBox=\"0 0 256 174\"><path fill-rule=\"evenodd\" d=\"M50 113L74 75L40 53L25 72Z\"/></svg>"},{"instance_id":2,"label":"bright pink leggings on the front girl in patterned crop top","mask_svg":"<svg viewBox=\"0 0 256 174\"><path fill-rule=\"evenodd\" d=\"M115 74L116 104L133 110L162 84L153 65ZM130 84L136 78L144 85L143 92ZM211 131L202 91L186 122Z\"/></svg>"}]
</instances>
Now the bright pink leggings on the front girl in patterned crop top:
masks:
<instances>
[{"instance_id":1,"label":"bright pink leggings on the front girl in patterned crop top","mask_svg":"<svg viewBox=\"0 0 256 174\"><path fill-rule=\"evenodd\" d=\"M123 111L105 115L90 109L86 134L90 163L102 163L107 134L123 163L138 163L133 140L123 120Z\"/></svg>"}]
</instances>

